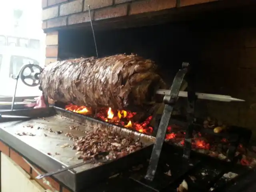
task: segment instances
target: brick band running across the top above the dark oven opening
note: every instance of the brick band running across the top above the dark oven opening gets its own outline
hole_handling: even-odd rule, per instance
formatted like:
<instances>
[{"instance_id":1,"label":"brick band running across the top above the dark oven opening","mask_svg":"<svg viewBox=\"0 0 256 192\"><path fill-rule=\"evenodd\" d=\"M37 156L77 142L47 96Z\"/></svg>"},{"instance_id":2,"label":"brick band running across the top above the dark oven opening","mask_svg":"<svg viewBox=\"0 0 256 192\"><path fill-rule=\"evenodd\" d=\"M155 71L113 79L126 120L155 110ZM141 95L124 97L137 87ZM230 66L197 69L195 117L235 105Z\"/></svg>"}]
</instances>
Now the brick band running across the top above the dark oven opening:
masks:
<instances>
[{"instance_id":1,"label":"brick band running across the top above the dark oven opening","mask_svg":"<svg viewBox=\"0 0 256 192\"><path fill-rule=\"evenodd\" d=\"M42 0L42 28L63 27L92 20L121 18L160 12L218 0Z\"/></svg>"}]
</instances>

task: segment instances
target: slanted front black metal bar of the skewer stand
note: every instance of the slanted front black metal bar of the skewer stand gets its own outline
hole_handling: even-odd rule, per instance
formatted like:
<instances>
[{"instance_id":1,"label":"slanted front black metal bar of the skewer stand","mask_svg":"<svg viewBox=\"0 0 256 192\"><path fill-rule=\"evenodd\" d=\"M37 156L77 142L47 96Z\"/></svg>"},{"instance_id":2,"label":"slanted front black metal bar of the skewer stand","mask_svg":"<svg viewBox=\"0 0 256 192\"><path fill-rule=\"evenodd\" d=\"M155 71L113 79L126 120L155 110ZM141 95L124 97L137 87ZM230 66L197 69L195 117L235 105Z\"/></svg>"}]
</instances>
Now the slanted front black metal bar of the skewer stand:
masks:
<instances>
[{"instance_id":1,"label":"slanted front black metal bar of the skewer stand","mask_svg":"<svg viewBox=\"0 0 256 192\"><path fill-rule=\"evenodd\" d=\"M176 103L176 100L178 98L178 93L180 91L182 81L186 73L188 72L187 66L184 66L184 67L185 67L184 69L179 70L177 72L174 78L174 81L172 83L172 87L170 89L170 95L164 96L164 103L166 104L166 106L164 107L164 112L160 120L159 128L156 134L156 142L152 150L147 174L145 176L145 179L150 181L154 180L154 176L156 174L156 170L158 166L158 161L162 151L162 145L164 143L164 139L166 135L166 130L174 109L174 104Z\"/></svg>"}]
</instances>

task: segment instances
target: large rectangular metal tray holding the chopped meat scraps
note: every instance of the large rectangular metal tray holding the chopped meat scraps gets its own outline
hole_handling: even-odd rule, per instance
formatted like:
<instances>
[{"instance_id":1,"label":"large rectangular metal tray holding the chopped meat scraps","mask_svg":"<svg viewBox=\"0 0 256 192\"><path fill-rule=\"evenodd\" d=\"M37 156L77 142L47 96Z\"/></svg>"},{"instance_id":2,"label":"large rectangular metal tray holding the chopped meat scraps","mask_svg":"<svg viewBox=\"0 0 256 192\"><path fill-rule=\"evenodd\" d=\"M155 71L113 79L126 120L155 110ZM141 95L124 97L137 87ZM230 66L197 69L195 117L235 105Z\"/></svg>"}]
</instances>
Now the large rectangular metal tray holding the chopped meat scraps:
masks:
<instances>
[{"instance_id":1,"label":"large rectangular metal tray holding the chopped meat scraps","mask_svg":"<svg viewBox=\"0 0 256 192\"><path fill-rule=\"evenodd\" d=\"M87 164L74 168L72 171L69 170L54 175L54 178L75 192L99 180L108 178L133 164L144 162L146 158L150 157L152 144L155 140L152 136L57 107L14 110L2 112L1 114L29 116L32 118L30 120L18 121L0 119L0 140L46 172L82 162L82 160L76 158L76 150L72 150L70 147L61 147L66 143L71 146L74 144L74 141L70 141L65 136L66 132L71 132L75 136L84 135L81 131L70 130L69 126L79 126L80 130L86 131L92 130L92 127L100 126L106 129L118 130L124 136L134 134L134 138L140 138L141 142L146 146L141 150L107 164L96 167L94 164ZM27 127L28 124L33 125L33 128ZM50 133L49 130L45 130L44 128L51 128L53 132ZM63 131L63 133L55 134L55 131ZM36 136L18 136L15 134L17 132L28 132ZM47 153L51 153L52 155L49 156ZM59 155L56 155L56 153Z\"/></svg>"}]
</instances>

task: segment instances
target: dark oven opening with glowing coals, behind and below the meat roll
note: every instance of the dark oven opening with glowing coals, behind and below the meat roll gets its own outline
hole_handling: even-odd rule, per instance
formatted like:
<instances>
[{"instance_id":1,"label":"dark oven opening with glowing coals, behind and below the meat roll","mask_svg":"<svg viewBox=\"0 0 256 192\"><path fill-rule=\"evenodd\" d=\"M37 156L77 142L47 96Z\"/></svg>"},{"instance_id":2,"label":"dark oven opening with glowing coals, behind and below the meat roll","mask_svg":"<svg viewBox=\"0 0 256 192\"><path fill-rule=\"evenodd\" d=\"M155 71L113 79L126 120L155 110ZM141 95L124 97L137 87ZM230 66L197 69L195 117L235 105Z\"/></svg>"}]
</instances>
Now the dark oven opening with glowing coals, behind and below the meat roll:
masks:
<instances>
[{"instance_id":1,"label":"dark oven opening with glowing coals, behind and below the meat roll","mask_svg":"<svg viewBox=\"0 0 256 192\"><path fill-rule=\"evenodd\" d=\"M208 18L209 19L209 18ZM207 20L207 19L206 19ZM206 20L178 22L154 26L96 30L98 56L105 57L115 54L135 53L156 62L158 71L168 87L171 86L176 72L182 62L189 62L196 71L196 91L212 94L231 95L244 99L244 103L223 103L199 100L196 106L196 118L204 128L222 132L224 136L212 136L207 133L194 134L192 148L210 156L225 159L230 150L228 128L232 133L241 134L247 142L254 124L248 117L253 114L254 99L246 80L253 79L252 50L255 39L252 33L255 28L241 26L236 22L225 20L218 23L206 23ZM208 20L209 21L209 20ZM247 36L244 36L247 34ZM94 38L90 28L66 29L59 31L59 60L96 56ZM245 75L246 74L246 75ZM241 87L244 90L240 92ZM186 86L185 86L186 88ZM184 89L185 90L185 89ZM124 111L113 108L101 108L91 111L86 106L65 104L67 110L93 116L102 121L117 124L145 134L156 134L157 116L138 115L136 111ZM177 119L184 119L186 99L179 98L175 107ZM137 116L138 115L138 116ZM139 118L138 118L139 117ZM184 125L184 124L183 124ZM182 124L170 124L166 140L172 144L183 146L186 127ZM234 141L233 141L234 142ZM247 161L242 164L248 165Z\"/></svg>"}]
</instances>

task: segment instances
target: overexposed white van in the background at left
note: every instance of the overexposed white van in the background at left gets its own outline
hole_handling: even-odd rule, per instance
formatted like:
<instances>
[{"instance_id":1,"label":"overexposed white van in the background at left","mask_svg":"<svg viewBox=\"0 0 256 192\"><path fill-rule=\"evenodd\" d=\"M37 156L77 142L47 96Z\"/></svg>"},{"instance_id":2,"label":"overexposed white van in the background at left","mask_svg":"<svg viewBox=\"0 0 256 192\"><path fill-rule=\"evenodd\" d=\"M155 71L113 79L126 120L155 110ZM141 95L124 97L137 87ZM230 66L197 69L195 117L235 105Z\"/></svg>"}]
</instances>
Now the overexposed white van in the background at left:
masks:
<instances>
[{"instance_id":1,"label":"overexposed white van in the background at left","mask_svg":"<svg viewBox=\"0 0 256 192\"><path fill-rule=\"evenodd\" d=\"M14 94L16 80L12 76L17 76L25 64L40 65L42 53L36 48L28 48L27 44L17 46L16 42L4 42L3 38L1 42L1 37L3 36L0 36L0 97L7 97ZM29 74L30 70L27 70L25 73ZM30 83L28 80L26 82ZM40 94L42 92L38 86L26 86L19 79L16 96L39 96Z\"/></svg>"}]
</instances>

